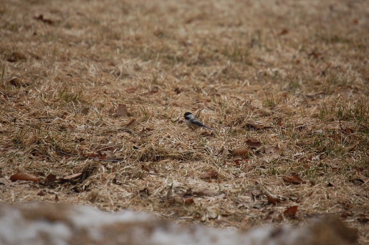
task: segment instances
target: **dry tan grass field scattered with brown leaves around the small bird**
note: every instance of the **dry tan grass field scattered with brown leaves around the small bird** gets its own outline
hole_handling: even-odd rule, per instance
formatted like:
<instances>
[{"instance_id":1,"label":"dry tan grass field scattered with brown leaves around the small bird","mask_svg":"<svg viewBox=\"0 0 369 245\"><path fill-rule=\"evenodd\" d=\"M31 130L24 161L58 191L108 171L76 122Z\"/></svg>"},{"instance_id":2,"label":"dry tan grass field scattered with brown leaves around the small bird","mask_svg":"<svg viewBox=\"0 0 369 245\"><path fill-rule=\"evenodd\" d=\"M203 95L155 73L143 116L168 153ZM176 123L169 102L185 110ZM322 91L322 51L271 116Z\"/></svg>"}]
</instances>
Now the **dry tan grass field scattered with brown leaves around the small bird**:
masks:
<instances>
[{"instance_id":1,"label":"dry tan grass field scattered with brown leaves around the small bird","mask_svg":"<svg viewBox=\"0 0 369 245\"><path fill-rule=\"evenodd\" d=\"M368 244L369 1L0 0L0 37L0 202Z\"/></svg>"}]
</instances>

